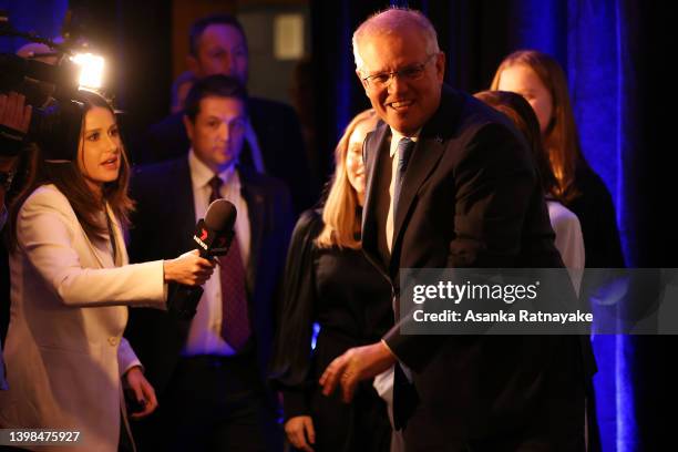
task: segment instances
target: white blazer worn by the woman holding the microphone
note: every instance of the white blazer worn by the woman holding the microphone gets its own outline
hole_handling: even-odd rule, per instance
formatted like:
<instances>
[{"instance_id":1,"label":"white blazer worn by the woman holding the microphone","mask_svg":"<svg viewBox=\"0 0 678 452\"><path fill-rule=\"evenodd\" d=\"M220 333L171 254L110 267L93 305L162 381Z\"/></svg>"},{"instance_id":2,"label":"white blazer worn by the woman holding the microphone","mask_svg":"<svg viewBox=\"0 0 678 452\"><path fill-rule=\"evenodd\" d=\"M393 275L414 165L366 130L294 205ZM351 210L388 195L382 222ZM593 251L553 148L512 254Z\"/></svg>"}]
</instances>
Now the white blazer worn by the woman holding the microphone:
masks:
<instances>
[{"instance_id":1,"label":"white blazer worn by the woman holding the microphone","mask_svg":"<svg viewBox=\"0 0 678 452\"><path fill-rule=\"evenodd\" d=\"M35 189L17 218L0 427L81 432L78 446L56 451L117 450L121 374L138 362L122 338L127 306L165 307L162 260L127 265L117 222L113 232L121 267L53 185Z\"/></svg>"}]
</instances>

